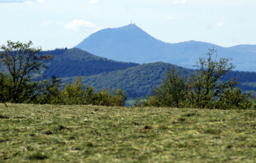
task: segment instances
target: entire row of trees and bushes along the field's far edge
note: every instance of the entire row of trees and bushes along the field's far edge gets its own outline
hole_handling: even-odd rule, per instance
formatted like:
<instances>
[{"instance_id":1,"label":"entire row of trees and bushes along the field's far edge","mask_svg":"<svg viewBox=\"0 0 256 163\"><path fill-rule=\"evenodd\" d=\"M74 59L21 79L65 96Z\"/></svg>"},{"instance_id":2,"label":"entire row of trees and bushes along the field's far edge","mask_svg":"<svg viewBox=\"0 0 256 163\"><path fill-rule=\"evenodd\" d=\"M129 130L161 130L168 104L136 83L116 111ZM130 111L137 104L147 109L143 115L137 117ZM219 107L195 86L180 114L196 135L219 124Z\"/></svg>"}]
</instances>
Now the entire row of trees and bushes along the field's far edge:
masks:
<instances>
[{"instance_id":1,"label":"entire row of trees and bushes along the field's far edge","mask_svg":"<svg viewBox=\"0 0 256 163\"><path fill-rule=\"evenodd\" d=\"M28 43L7 41L2 45L0 56L0 102L39 103L39 104L92 104L122 106L127 98L122 88L112 90L104 88L95 91L94 87L82 85L81 77L69 83L61 90L61 80L52 76L46 78L44 70L53 56L40 53L41 48L33 48ZM62 51L66 51L65 49ZM209 50L207 58L199 58L197 70L186 76L174 68L166 73L159 87L153 90L153 96L146 100L137 99L135 106L192 107L210 109L249 109L252 96L244 93L237 78L226 81L234 65L229 58L214 57L215 49ZM256 100L254 99L254 108Z\"/></svg>"}]
</instances>

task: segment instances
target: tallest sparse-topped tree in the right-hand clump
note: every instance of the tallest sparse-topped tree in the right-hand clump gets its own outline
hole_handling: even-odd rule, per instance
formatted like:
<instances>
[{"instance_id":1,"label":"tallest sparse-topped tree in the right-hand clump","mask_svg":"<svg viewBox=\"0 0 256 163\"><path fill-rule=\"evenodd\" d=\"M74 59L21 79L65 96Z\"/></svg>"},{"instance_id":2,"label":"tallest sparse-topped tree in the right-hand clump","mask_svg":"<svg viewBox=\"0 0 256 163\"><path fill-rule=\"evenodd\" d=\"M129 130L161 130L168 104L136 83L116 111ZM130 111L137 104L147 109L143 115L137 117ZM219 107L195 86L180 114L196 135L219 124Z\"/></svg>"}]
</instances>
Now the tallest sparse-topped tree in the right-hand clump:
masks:
<instances>
[{"instance_id":1,"label":"tallest sparse-topped tree in the right-hand clump","mask_svg":"<svg viewBox=\"0 0 256 163\"><path fill-rule=\"evenodd\" d=\"M214 54L216 54L214 58ZM189 104L197 108L211 107L216 97L220 97L227 88L239 84L236 78L221 82L220 79L234 68L231 59L220 58L216 60L217 52L210 49L207 58L199 58L198 71L189 77Z\"/></svg>"}]
</instances>

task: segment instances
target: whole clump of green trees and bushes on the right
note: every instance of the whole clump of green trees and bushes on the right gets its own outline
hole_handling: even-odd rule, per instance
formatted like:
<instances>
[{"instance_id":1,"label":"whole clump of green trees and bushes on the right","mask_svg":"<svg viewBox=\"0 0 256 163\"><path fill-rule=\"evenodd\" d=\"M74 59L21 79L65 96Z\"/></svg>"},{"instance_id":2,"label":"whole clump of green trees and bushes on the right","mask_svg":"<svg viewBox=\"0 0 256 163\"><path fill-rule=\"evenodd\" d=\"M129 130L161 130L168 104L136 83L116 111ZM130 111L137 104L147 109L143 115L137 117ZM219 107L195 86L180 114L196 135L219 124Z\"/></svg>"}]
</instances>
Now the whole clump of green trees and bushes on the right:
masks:
<instances>
[{"instance_id":1,"label":"whole clump of green trees and bushes on the right","mask_svg":"<svg viewBox=\"0 0 256 163\"><path fill-rule=\"evenodd\" d=\"M147 96L142 101L144 106L171 106L218 109L248 109L251 107L251 95L243 94L240 88L234 88L236 78L221 81L234 66L228 58L213 59L217 53L209 50L207 58L199 58L198 69L186 78L174 69L166 73L166 79L154 91L154 96ZM216 56L217 57L217 56Z\"/></svg>"}]
</instances>

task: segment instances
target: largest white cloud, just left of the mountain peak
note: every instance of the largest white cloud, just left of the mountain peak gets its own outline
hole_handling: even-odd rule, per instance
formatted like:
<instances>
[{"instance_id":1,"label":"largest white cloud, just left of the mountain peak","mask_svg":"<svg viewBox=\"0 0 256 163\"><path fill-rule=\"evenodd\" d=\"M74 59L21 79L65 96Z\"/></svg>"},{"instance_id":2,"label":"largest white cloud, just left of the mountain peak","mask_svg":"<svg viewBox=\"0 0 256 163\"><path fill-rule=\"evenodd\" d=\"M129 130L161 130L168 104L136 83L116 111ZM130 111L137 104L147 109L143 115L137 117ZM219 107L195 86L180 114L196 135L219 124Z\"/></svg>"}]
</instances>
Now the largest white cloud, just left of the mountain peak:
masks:
<instances>
[{"instance_id":1,"label":"largest white cloud, just left of the mountain peak","mask_svg":"<svg viewBox=\"0 0 256 163\"><path fill-rule=\"evenodd\" d=\"M84 21L82 19L73 20L67 23L57 22L57 24L63 26L65 29L74 31L96 28L96 26L92 22Z\"/></svg>"}]
</instances>

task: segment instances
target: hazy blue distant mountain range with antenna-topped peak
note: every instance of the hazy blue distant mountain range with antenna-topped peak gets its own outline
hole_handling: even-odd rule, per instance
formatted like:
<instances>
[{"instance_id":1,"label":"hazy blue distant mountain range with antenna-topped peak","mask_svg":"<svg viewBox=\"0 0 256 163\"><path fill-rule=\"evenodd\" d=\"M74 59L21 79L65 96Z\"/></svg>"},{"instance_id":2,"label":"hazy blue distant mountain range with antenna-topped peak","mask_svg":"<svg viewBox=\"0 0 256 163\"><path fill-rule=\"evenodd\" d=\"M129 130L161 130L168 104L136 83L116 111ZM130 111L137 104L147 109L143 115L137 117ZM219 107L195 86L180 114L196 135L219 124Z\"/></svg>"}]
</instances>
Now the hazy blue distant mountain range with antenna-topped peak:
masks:
<instances>
[{"instance_id":1,"label":"hazy blue distant mountain range with antenna-topped peak","mask_svg":"<svg viewBox=\"0 0 256 163\"><path fill-rule=\"evenodd\" d=\"M155 39L135 24L108 28L91 34L75 48L94 55L124 62L168 62L191 68L208 49L215 48L218 58L233 58L239 71L256 71L256 45L238 45L230 48L199 42L166 43Z\"/></svg>"}]
</instances>

